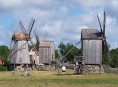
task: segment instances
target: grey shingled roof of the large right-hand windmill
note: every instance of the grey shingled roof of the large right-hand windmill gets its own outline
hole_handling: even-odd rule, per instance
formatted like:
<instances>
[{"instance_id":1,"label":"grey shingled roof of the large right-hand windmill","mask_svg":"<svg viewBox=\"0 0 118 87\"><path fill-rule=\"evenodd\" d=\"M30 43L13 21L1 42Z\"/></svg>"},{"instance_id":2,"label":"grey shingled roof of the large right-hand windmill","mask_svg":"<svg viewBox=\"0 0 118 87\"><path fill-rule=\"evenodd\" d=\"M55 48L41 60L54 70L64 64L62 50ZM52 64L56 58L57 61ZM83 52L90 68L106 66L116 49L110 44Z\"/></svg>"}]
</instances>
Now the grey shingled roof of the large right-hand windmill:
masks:
<instances>
[{"instance_id":1,"label":"grey shingled roof of the large right-hand windmill","mask_svg":"<svg viewBox=\"0 0 118 87\"><path fill-rule=\"evenodd\" d=\"M81 39L102 39L102 34L97 29L82 29Z\"/></svg>"}]
</instances>

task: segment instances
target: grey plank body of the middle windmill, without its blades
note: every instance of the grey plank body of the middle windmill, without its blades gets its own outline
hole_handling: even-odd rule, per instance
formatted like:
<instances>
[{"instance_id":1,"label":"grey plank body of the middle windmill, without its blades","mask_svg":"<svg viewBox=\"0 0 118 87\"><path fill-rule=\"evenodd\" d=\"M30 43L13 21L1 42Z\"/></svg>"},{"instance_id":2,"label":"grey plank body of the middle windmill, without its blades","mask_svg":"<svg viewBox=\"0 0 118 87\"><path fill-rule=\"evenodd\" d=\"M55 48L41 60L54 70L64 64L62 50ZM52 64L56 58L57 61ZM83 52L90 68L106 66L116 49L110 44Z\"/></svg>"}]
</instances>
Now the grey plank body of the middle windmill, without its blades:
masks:
<instances>
[{"instance_id":1,"label":"grey plank body of the middle windmill, without its blades","mask_svg":"<svg viewBox=\"0 0 118 87\"><path fill-rule=\"evenodd\" d=\"M39 46L39 64L55 61L54 41L42 41Z\"/></svg>"}]
</instances>

